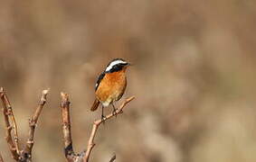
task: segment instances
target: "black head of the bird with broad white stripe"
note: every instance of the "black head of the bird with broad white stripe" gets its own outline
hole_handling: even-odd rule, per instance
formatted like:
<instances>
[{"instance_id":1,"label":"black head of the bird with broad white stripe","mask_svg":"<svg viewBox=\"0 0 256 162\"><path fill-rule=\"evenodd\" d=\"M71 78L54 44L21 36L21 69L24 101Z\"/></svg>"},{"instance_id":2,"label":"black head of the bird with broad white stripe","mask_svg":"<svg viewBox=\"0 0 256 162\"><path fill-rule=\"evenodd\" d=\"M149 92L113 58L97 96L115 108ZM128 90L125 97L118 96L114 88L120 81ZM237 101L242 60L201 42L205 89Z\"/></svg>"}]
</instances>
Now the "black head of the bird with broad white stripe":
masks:
<instances>
[{"instance_id":1,"label":"black head of the bird with broad white stripe","mask_svg":"<svg viewBox=\"0 0 256 162\"><path fill-rule=\"evenodd\" d=\"M116 58L109 62L109 65L106 67L105 73L113 73L119 70L122 70L124 67L129 66L130 64L122 58Z\"/></svg>"}]
</instances>

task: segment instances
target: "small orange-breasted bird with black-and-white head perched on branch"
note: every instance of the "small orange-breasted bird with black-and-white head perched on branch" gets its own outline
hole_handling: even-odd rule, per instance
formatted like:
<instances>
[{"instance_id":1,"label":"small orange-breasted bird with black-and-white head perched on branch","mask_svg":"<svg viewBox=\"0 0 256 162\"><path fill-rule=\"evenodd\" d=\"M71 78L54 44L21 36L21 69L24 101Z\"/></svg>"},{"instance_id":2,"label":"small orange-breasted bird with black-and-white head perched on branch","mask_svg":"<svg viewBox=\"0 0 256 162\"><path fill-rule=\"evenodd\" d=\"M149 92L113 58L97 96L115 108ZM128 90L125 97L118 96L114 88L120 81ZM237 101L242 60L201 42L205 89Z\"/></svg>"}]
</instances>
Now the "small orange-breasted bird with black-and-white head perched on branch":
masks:
<instances>
[{"instance_id":1,"label":"small orange-breasted bird with black-and-white head perched on branch","mask_svg":"<svg viewBox=\"0 0 256 162\"><path fill-rule=\"evenodd\" d=\"M127 87L126 71L131 64L123 58L115 58L100 74L95 85L95 100L90 111L94 112L101 103L101 120L105 118L104 108L110 104L113 107L113 114L116 112L114 103L119 101Z\"/></svg>"}]
</instances>

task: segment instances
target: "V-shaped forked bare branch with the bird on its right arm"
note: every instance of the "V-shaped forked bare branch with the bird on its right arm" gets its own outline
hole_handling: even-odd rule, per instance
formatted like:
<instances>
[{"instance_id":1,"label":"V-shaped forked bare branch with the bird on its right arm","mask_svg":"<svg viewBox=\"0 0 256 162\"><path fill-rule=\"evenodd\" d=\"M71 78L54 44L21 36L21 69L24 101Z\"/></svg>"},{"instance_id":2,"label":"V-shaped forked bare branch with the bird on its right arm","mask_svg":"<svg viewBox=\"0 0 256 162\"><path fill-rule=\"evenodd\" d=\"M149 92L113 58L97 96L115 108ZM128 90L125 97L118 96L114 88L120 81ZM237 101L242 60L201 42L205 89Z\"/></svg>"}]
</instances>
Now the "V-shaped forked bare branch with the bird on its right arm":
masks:
<instances>
[{"instance_id":1,"label":"V-shaped forked bare branch with the bird on its right arm","mask_svg":"<svg viewBox=\"0 0 256 162\"><path fill-rule=\"evenodd\" d=\"M64 152L65 152L65 157L69 162L89 162L92 148L94 148L95 146L94 139L96 137L96 133L98 128L100 127L100 124L104 121L108 121L113 116L116 116L122 113L127 103L131 102L135 98L134 96L129 97L119 106L119 109L117 109L116 112L108 114L104 119L99 119L97 121L94 121L85 153L82 152L81 154L75 154L73 151L72 139L71 139L71 117L70 117L69 94L61 93L61 96L62 96L62 104L61 104L62 131L64 136L64 146L65 146ZM114 155L110 159L110 162L113 162L115 159L116 159L116 156Z\"/></svg>"}]
</instances>

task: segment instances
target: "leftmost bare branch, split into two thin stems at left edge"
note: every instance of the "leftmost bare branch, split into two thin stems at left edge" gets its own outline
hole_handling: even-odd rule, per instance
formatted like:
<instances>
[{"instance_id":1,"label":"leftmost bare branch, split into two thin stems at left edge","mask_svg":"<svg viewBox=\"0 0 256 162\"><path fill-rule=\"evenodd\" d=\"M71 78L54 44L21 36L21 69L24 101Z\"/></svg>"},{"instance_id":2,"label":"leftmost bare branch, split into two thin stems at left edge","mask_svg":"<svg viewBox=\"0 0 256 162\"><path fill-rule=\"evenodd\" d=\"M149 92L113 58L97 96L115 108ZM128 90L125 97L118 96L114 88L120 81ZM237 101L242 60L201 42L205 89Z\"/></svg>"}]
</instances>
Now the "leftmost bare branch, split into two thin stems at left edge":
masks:
<instances>
[{"instance_id":1,"label":"leftmost bare branch, split into two thin stems at left edge","mask_svg":"<svg viewBox=\"0 0 256 162\"><path fill-rule=\"evenodd\" d=\"M18 132L17 132L17 126L14 119L14 113L12 110L12 106L7 98L7 95L5 93L5 90L3 87L0 87L0 97L3 103L3 113L5 118L5 127L6 127L6 141L9 145L9 148L11 150L12 156L15 160L19 159L19 147L18 147ZM13 126L11 125L9 118L11 118L11 121L13 123ZM12 138L12 130L14 129L14 140Z\"/></svg>"}]
</instances>

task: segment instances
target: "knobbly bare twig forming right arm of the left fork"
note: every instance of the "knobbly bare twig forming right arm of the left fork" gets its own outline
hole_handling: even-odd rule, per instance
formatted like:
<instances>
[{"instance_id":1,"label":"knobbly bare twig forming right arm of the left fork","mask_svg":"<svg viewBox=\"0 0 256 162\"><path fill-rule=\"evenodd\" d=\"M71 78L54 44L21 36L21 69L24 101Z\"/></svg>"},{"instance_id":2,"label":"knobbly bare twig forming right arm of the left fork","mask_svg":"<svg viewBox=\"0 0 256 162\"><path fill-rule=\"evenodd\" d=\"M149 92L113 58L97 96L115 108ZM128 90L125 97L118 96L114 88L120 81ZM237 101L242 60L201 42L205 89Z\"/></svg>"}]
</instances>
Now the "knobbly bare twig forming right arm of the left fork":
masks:
<instances>
[{"instance_id":1,"label":"knobbly bare twig forming right arm of the left fork","mask_svg":"<svg viewBox=\"0 0 256 162\"><path fill-rule=\"evenodd\" d=\"M33 149L33 143L34 143L34 130L36 127L36 123L38 121L39 115L41 114L43 110L43 105L46 103L46 96L49 93L49 89L43 90L40 101L38 103L38 106L33 113L33 117L29 120L29 135L26 142L26 146L24 148L24 152L27 154L28 157L31 157L32 149Z\"/></svg>"}]
</instances>

